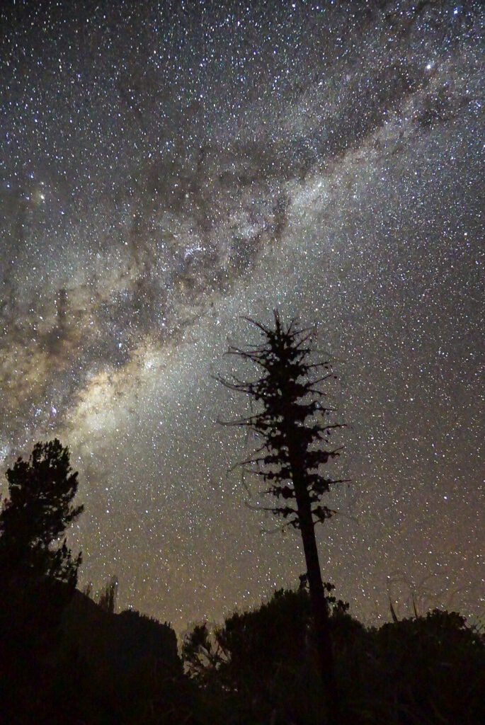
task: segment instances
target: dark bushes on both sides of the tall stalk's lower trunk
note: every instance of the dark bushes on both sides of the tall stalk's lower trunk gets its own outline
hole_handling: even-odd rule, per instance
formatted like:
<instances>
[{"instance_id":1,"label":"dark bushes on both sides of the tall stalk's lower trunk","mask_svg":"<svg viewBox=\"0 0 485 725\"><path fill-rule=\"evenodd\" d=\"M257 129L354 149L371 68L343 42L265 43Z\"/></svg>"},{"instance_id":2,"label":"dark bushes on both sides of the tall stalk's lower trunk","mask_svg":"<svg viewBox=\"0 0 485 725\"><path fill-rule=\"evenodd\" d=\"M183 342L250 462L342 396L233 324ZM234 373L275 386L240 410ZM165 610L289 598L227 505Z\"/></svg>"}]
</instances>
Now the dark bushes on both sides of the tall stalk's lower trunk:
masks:
<instances>
[{"instance_id":1,"label":"dark bushes on both sides of the tall stalk's lower trunk","mask_svg":"<svg viewBox=\"0 0 485 725\"><path fill-rule=\"evenodd\" d=\"M365 629L330 597L338 725L479 725L485 642L457 613ZM276 592L260 609L236 613L221 628L186 635L183 657L205 694L207 711L228 724L318 725L321 689L306 590ZM197 631L195 637L194 632ZM211 657L207 658L207 650ZM222 703L222 704L221 704Z\"/></svg>"}]
</instances>

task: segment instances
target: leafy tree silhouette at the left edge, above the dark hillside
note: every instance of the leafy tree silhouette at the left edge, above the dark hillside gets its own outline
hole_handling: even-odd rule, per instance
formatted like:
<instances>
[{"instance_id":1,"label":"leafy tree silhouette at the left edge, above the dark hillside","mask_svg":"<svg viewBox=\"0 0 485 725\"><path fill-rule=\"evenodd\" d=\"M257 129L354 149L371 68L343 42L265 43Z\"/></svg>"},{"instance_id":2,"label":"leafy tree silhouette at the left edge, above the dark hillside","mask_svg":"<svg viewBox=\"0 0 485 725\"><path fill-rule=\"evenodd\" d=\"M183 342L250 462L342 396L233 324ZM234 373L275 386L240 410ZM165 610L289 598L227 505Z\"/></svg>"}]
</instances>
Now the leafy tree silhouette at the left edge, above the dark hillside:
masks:
<instances>
[{"instance_id":1,"label":"leafy tree silhouette at the left edge, above the dark hillside","mask_svg":"<svg viewBox=\"0 0 485 725\"><path fill-rule=\"evenodd\" d=\"M66 539L55 544L83 506L73 506L78 473L69 449L57 439L36 443L28 461L17 458L7 470L9 498L0 512L0 568L5 579L51 577L72 587L81 554L72 558Z\"/></svg>"}]
</instances>

